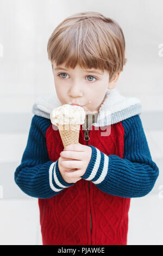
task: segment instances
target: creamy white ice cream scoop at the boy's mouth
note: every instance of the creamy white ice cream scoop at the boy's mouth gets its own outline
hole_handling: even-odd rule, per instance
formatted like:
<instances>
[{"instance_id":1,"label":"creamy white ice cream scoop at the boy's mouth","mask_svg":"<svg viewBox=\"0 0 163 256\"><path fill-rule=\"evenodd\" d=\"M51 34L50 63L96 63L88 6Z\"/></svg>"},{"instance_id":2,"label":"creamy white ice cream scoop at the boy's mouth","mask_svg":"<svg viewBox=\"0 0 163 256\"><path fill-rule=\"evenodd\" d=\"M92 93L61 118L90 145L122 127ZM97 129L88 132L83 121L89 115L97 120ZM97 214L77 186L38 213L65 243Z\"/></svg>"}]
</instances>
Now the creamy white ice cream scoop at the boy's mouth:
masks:
<instances>
[{"instance_id":1,"label":"creamy white ice cream scoop at the boy's mouth","mask_svg":"<svg viewBox=\"0 0 163 256\"><path fill-rule=\"evenodd\" d=\"M51 113L51 122L54 125L60 124L84 124L85 111L83 107L65 104L54 108Z\"/></svg>"}]
</instances>

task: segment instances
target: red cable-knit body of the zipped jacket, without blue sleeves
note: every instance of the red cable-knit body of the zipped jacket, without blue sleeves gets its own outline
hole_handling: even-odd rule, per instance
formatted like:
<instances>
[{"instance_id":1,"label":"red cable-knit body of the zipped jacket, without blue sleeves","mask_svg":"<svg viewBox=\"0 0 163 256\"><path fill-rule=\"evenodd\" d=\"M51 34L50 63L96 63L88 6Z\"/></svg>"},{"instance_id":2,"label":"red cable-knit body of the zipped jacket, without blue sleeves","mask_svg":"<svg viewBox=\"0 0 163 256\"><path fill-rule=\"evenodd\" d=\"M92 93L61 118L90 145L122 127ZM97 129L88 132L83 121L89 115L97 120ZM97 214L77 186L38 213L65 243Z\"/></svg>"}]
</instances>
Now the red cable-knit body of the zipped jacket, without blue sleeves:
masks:
<instances>
[{"instance_id":1,"label":"red cable-knit body of the zipped jacket, without blue sleeves","mask_svg":"<svg viewBox=\"0 0 163 256\"><path fill-rule=\"evenodd\" d=\"M89 137L88 145L123 158L121 122L111 125L110 136L101 136L101 129L92 126ZM79 143L86 145L82 129ZM49 160L57 161L64 148L52 125L46 144ZM84 179L52 198L39 199L43 245L126 245L129 204L130 198L111 196Z\"/></svg>"}]
</instances>

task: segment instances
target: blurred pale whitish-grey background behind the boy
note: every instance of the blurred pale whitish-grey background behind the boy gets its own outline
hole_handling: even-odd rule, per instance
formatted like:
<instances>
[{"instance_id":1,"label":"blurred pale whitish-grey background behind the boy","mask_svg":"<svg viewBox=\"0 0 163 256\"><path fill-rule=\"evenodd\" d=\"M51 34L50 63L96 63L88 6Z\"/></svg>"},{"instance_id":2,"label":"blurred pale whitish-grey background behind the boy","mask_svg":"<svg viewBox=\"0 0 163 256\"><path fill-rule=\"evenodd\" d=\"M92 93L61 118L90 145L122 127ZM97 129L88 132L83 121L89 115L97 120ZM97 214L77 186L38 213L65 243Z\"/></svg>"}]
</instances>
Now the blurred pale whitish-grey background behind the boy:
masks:
<instances>
[{"instance_id":1,"label":"blurred pale whitish-grey background behind the boy","mask_svg":"<svg viewBox=\"0 0 163 256\"><path fill-rule=\"evenodd\" d=\"M123 30L128 62L117 89L141 100L143 128L160 169L153 190L131 199L128 245L163 245L162 10L162 0L0 0L0 245L42 244L37 199L18 188L14 172L35 100L55 94L49 36L62 20L82 11L102 13Z\"/></svg>"}]
</instances>

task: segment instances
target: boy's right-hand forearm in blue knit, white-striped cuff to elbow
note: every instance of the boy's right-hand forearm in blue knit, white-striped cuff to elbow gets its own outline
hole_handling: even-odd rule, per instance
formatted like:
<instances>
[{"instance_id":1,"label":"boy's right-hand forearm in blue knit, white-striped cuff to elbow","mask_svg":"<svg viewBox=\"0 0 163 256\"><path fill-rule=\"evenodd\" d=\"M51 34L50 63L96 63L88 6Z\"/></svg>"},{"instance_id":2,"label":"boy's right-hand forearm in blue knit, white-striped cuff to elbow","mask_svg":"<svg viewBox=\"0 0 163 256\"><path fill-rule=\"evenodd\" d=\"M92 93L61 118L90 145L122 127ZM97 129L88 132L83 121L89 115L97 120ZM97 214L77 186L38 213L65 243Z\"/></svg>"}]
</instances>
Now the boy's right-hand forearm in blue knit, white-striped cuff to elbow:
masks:
<instances>
[{"instance_id":1,"label":"boy's right-hand forearm in blue knit, white-striped cuff to elbow","mask_svg":"<svg viewBox=\"0 0 163 256\"><path fill-rule=\"evenodd\" d=\"M131 162L89 147L92 147L92 157L83 179L92 181L105 193L120 197L142 197L152 190L158 167L151 159Z\"/></svg>"}]
</instances>

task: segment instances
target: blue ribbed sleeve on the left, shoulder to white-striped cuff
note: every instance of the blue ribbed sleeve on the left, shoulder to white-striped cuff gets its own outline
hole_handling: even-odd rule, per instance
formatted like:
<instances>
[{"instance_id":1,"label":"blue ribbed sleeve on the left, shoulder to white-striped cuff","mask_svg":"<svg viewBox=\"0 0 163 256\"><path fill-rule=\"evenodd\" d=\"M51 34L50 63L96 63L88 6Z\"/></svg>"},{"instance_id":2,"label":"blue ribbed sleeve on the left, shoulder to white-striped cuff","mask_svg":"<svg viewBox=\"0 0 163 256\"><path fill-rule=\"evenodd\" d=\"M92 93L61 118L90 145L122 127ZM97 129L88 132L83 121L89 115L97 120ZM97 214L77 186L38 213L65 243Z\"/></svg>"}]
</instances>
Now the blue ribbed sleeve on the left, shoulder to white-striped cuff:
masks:
<instances>
[{"instance_id":1,"label":"blue ribbed sleeve on the left, shoulder to white-striped cuff","mask_svg":"<svg viewBox=\"0 0 163 256\"><path fill-rule=\"evenodd\" d=\"M45 135L50 124L49 119L34 115L21 164L15 171L16 184L36 198L51 198L73 185L62 179L58 160L49 161Z\"/></svg>"}]
</instances>

